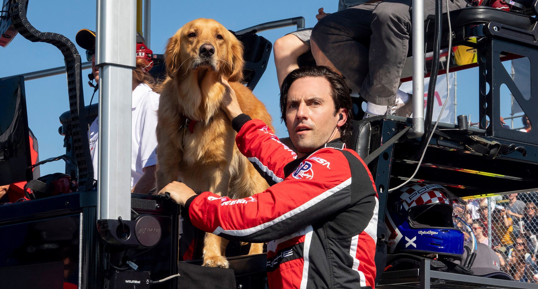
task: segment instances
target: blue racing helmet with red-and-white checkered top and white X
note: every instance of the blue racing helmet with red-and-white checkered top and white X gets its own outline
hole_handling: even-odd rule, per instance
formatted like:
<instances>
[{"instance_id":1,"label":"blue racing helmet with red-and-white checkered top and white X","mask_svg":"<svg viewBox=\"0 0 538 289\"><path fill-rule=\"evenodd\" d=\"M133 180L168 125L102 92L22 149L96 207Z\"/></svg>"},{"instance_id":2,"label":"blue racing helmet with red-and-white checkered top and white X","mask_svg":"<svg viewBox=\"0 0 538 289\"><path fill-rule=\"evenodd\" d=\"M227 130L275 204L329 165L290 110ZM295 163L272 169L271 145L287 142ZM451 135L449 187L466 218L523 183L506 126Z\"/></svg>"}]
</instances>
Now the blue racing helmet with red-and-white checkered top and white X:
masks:
<instances>
[{"instance_id":1,"label":"blue racing helmet with red-and-white checkered top and white X","mask_svg":"<svg viewBox=\"0 0 538 289\"><path fill-rule=\"evenodd\" d=\"M464 212L464 201L441 185L401 187L387 204L388 253L461 257L464 235L455 223Z\"/></svg>"}]
</instances>

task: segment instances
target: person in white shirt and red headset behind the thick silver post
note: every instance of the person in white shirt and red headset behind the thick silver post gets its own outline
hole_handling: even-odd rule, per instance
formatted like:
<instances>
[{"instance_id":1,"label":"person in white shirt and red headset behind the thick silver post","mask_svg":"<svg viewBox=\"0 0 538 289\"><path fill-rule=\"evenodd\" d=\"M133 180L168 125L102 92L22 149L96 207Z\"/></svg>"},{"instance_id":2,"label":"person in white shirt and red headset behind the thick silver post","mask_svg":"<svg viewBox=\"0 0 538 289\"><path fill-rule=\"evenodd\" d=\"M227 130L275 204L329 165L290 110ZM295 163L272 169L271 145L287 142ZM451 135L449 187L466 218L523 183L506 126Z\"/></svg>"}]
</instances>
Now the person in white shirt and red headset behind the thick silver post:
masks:
<instances>
[{"instance_id":1,"label":"person in white shirt and red headset behind the thick silver post","mask_svg":"<svg viewBox=\"0 0 538 289\"><path fill-rule=\"evenodd\" d=\"M99 69L95 67L95 32L82 29L76 34L77 44L86 49L86 58L91 61L91 72L99 83ZM136 69L132 78L132 129L131 129L131 191L149 193L155 186L155 164L157 164L157 109L159 94L154 92L155 80L148 73L153 67L153 52L144 44L137 33ZM91 161L97 179L99 117L90 125L89 144Z\"/></svg>"}]
</instances>

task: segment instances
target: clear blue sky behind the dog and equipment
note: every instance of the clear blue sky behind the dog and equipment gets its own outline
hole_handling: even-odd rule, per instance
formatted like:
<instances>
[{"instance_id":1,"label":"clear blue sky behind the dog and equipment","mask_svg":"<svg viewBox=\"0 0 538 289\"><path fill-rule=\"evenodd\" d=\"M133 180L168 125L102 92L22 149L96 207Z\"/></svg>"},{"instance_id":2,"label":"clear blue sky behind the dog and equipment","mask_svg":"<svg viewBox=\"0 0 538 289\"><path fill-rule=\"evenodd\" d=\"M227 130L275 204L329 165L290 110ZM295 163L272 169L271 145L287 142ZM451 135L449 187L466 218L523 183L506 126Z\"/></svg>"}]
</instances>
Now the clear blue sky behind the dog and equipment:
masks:
<instances>
[{"instance_id":1,"label":"clear blue sky behind the dog and equipment","mask_svg":"<svg viewBox=\"0 0 538 289\"><path fill-rule=\"evenodd\" d=\"M183 24L196 18L213 18L229 30L240 30L267 21L303 16L306 27L316 23L317 9L335 12L337 1L152 1L151 48L154 53L163 53L166 41ZM95 30L95 3L92 1L29 1L28 19L42 32L65 35L73 42L81 28ZM259 33L274 43L295 27L280 28ZM83 55L84 51L79 48ZM0 48L0 77L27 73L41 69L63 66L63 57L54 46L33 43L17 35L8 47ZM83 70L85 104L90 102L91 89L86 85L89 70ZM469 69L457 74L457 114L471 114L478 121L478 70ZM39 141L40 159L65 153L63 136L58 133L59 116L69 109L67 81L58 75L25 82L29 125ZM265 103L273 117L277 135L287 136L286 128L279 119L279 90L274 68L273 55L264 76L254 89L254 94ZM96 93L97 98L97 93ZM501 115L509 115L509 98L505 97ZM94 103L96 99L94 98ZM517 120L516 125L520 124ZM41 166L41 174L63 171L60 162Z\"/></svg>"}]
</instances>

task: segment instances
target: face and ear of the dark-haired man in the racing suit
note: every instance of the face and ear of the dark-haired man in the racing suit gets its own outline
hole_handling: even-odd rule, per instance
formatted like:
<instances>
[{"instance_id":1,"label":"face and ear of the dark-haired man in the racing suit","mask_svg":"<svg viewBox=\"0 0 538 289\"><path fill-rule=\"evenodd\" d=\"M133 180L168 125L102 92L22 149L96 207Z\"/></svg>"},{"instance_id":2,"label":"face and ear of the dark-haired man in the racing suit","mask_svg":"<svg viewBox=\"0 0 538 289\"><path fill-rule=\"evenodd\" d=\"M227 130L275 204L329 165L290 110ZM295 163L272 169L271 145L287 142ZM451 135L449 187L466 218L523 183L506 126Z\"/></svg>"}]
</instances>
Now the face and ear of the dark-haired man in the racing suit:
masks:
<instances>
[{"instance_id":1,"label":"face and ear of the dark-haired man in the racing suit","mask_svg":"<svg viewBox=\"0 0 538 289\"><path fill-rule=\"evenodd\" d=\"M339 113L335 115L331 87L325 78L303 77L290 86L286 103L286 127L289 138L299 152L313 151L325 142L339 138L340 132L336 126L345 123L345 111L343 115L342 121L338 121Z\"/></svg>"}]
</instances>

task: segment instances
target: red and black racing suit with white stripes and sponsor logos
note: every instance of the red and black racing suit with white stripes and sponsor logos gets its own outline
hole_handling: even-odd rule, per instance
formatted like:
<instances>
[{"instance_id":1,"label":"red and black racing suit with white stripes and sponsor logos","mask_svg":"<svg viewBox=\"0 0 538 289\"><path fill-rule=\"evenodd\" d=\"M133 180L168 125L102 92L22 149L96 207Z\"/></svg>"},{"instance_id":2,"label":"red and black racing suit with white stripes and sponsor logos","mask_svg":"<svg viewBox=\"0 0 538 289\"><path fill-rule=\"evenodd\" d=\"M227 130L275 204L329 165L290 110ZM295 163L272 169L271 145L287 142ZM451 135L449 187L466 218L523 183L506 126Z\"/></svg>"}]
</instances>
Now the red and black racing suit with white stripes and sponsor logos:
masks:
<instances>
[{"instance_id":1,"label":"red and black racing suit with white stripes and sponsor logos","mask_svg":"<svg viewBox=\"0 0 538 289\"><path fill-rule=\"evenodd\" d=\"M378 198L370 171L342 142L296 159L261 120L233 119L242 154L267 190L231 200L211 192L185 205L193 225L267 243L270 288L373 288Z\"/></svg>"}]
</instances>

